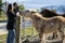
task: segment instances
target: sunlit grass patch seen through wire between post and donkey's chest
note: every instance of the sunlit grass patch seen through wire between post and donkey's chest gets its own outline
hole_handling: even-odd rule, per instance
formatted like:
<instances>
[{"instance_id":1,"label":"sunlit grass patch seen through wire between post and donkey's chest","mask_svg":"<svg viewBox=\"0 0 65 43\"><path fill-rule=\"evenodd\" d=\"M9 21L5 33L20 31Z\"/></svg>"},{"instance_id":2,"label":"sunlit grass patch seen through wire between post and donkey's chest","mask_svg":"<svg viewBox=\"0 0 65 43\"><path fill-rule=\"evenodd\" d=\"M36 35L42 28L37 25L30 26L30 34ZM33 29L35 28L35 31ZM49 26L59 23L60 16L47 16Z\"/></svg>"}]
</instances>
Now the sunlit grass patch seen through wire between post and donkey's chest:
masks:
<instances>
[{"instance_id":1,"label":"sunlit grass patch seen through wire between post and donkey's chest","mask_svg":"<svg viewBox=\"0 0 65 43\"><path fill-rule=\"evenodd\" d=\"M26 35L36 35L38 32L34 27L27 27L25 29L21 29L21 35L26 37Z\"/></svg>"}]
</instances>

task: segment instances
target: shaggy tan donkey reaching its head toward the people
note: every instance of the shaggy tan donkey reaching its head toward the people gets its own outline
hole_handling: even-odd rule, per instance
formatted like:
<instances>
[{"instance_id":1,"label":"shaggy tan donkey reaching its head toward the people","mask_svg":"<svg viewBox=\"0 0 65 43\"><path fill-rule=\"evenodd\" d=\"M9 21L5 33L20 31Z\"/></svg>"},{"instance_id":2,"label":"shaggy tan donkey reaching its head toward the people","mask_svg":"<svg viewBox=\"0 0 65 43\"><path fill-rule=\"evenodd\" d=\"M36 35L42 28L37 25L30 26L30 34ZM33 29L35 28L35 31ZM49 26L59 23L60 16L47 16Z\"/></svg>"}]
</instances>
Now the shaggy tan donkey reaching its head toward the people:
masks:
<instances>
[{"instance_id":1,"label":"shaggy tan donkey reaching its head toward the people","mask_svg":"<svg viewBox=\"0 0 65 43\"><path fill-rule=\"evenodd\" d=\"M46 43L44 33L54 32L58 30L64 40L65 18L62 16L54 16L50 18L43 17L36 10L27 10L20 13L21 16L29 17L36 30L39 32L40 43Z\"/></svg>"}]
</instances>

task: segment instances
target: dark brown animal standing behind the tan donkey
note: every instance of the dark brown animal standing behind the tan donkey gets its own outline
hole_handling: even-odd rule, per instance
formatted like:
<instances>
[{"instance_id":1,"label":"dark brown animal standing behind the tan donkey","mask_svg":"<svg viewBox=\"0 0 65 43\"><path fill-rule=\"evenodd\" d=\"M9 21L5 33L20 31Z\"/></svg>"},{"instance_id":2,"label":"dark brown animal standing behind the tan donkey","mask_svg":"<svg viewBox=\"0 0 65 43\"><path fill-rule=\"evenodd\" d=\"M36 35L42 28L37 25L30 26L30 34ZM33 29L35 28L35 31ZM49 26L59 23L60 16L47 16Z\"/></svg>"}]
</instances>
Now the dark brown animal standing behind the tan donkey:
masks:
<instances>
[{"instance_id":1,"label":"dark brown animal standing behind the tan donkey","mask_svg":"<svg viewBox=\"0 0 65 43\"><path fill-rule=\"evenodd\" d=\"M48 10L48 9L42 9L40 14L43 17L47 17L47 18L53 17L53 16L63 16L63 17L65 17L65 14L57 14L56 12L53 12L53 11ZM51 39L55 39L55 38L57 38L57 32L56 31L53 33L53 37Z\"/></svg>"}]
</instances>

